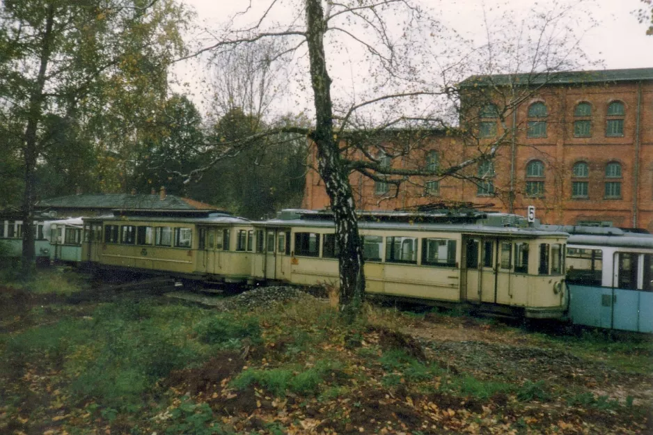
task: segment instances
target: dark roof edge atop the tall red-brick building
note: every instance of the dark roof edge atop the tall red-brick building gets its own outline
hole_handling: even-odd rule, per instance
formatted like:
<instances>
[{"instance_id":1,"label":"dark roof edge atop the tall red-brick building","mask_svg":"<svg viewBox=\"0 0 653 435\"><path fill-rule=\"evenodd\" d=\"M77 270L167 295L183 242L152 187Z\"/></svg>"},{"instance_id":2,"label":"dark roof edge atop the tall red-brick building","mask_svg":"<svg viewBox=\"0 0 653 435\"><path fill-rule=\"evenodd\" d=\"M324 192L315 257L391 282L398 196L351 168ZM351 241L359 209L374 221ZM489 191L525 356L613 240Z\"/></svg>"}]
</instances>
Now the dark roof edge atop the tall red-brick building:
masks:
<instances>
[{"instance_id":1,"label":"dark roof edge atop the tall red-brick building","mask_svg":"<svg viewBox=\"0 0 653 435\"><path fill-rule=\"evenodd\" d=\"M509 84L570 85L642 80L653 80L653 68L474 75L464 79L460 85L462 87L505 86Z\"/></svg>"}]
</instances>

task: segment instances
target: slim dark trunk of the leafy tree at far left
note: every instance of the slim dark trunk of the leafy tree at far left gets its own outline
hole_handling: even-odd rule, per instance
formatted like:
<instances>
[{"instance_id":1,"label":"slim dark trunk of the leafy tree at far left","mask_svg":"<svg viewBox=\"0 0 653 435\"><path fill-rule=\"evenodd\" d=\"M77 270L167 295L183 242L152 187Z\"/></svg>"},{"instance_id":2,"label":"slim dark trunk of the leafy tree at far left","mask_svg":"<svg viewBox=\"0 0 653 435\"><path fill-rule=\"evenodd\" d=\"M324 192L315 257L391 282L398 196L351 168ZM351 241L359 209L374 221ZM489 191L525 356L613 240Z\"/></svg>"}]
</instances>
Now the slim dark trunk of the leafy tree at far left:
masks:
<instances>
[{"instance_id":1,"label":"slim dark trunk of the leafy tree at far left","mask_svg":"<svg viewBox=\"0 0 653 435\"><path fill-rule=\"evenodd\" d=\"M27 126L25 128L23 155L25 159L24 182L25 190L22 204L22 221L23 221L23 251L22 251L22 270L23 276L29 276L34 263L34 171L36 170L36 159L38 150L36 145L36 132L38 123L41 118L43 103L43 87L45 86L45 73L52 53L52 26L54 24L54 6L47 6L45 21L45 31L43 32L40 65L36 84L29 98L29 111L27 115Z\"/></svg>"}]
</instances>

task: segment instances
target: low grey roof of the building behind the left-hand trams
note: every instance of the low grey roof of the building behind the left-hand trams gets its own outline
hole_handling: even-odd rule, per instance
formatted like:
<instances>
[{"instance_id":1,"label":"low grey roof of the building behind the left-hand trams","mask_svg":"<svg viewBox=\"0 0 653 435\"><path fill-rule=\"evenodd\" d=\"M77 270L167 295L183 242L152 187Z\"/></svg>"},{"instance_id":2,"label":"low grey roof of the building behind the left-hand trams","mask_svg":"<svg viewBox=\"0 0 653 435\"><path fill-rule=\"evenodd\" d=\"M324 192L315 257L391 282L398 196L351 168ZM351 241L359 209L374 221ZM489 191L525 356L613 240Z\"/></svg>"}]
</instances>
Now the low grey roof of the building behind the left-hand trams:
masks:
<instances>
[{"instance_id":1,"label":"low grey roof of the building behind the left-hand trams","mask_svg":"<svg viewBox=\"0 0 653 435\"><path fill-rule=\"evenodd\" d=\"M150 210L200 210L216 207L200 203L190 198L166 195L160 199L159 193L151 195L129 193L83 193L80 195L58 196L38 201L36 207L43 208L92 208L92 209L150 209Z\"/></svg>"}]
</instances>

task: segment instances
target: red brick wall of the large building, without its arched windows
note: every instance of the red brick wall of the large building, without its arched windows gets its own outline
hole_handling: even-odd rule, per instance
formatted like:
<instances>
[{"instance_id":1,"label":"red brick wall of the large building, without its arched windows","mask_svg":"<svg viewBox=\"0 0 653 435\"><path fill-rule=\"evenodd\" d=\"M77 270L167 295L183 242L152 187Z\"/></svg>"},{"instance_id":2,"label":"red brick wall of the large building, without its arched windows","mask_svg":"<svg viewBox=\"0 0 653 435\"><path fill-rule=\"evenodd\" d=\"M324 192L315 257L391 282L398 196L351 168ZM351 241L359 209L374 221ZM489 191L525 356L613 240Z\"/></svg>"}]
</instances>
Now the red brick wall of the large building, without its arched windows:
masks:
<instances>
[{"instance_id":1,"label":"red brick wall of the large building, without its arched windows","mask_svg":"<svg viewBox=\"0 0 653 435\"><path fill-rule=\"evenodd\" d=\"M639 159L636 159L637 115L639 103ZM606 137L606 111L615 100L624 103L624 136ZM546 138L526 137L528 106L535 101L546 104ZM592 106L592 130L589 138L574 137L574 109L579 102ZM510 127L510 125L509 125ZM551 86L522 104L517 111L517 139L514 167L514 212L526 214L528 205L535 205L537 217L544 223L575 224L579 221L611 221L614 226L647 228L653 232L653 82L642 84L592 84L585 86ZM446 167L474 154L476 147L463 145L459 138L436 136L426 148L439 150L441 166ZM495 161L494 184L497 195L490 198L477 196L475 184L449 178L440 182L440 196L426 196L423 187L404 182L399 193L391 186L384 196L375 195L374 182L358 173L350 177L356 206L359 209L396 209L425 204L439 199L470 201L475 205L494 204L489 209L510 211L511 146L504 145ZM424 152L424 150L418 150ZM414 156L419 159L420 156ZM315 159L310 155L309 159ZM526 165L533 159L544 163L545 195L527 198ZM395 159L396 160L396 159ZM572 198L572 167L585 161L590 168L588 177L589 198ZM617 161L622 165L622 196L604 198L606 164ZM393 161L393 166L409 165L409 159ZM636 177L636 170L638 176ZM475 168L469 168L473 173ZM529 179L536 180L536 179ZM537 179L542 180L542 179ZM423 185L424 180L418 184ZM583 180L584 181L584 180ZM637 184L636 210L634 188ZM329 205L329 198L315 171L306 175L306 193L303 206L320 209Z\"/></svg>"}]
</instances>

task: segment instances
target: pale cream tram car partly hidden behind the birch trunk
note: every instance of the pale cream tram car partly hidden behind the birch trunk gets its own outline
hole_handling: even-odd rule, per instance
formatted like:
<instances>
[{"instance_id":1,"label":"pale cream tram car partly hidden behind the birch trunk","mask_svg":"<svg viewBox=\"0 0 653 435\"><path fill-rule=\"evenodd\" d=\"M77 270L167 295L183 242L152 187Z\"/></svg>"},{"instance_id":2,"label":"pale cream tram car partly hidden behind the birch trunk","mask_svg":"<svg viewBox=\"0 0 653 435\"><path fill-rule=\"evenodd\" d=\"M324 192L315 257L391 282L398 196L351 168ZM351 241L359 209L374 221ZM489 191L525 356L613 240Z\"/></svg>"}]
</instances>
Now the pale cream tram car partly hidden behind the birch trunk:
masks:
<instances>
[{"instance_id":1,"label":"pale cream tram car partly hidden behind the birch trunk","mask_svg":"<svg viewBox=\"0 0 653 435\"><path fill-rule=\"evenodd\" d=\"M253 226L253 279L338 284L329 212L284 210ZM533 318L560 318L567 309L565 232L479 212L361 213L359 230L369 294Z\"/></svg>"}]
</instances>

